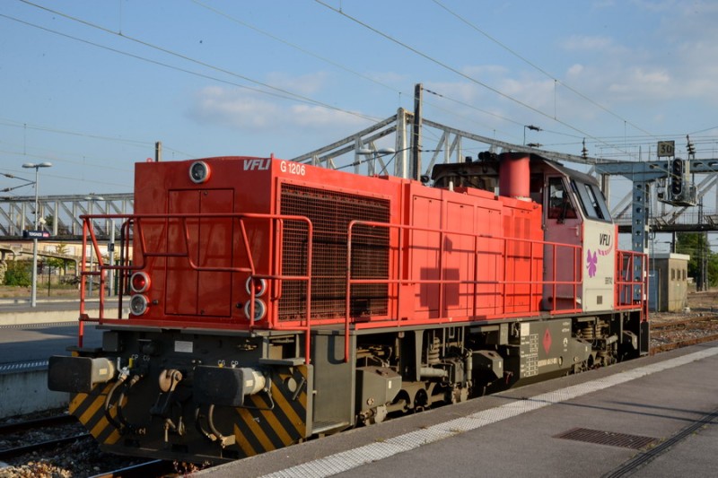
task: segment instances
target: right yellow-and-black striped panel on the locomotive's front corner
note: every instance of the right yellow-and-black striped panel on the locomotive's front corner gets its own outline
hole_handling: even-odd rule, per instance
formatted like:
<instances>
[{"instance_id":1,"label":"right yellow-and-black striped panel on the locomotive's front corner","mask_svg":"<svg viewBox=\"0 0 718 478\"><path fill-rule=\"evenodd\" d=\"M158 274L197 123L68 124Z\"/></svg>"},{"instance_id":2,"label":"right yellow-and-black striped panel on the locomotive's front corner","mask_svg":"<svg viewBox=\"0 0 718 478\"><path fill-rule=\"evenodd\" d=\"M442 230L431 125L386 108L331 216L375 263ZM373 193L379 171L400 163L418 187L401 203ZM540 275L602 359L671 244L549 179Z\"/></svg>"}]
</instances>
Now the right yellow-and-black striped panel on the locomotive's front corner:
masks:
<instances>
[{"instance_id":1,"label":"right yellow-and-black striped panel on the locomotive's front corner","mask_svg":"<svg viewBox=\"0 0 718 478\"><path fill-rule=\"evenodd\" d=\"M237 408L234 438L241 456L253 456L296 443L307 435L310 367L286 367L272 372L269 394L250 395L249 407Z\"/></svg>"}]
</instances>

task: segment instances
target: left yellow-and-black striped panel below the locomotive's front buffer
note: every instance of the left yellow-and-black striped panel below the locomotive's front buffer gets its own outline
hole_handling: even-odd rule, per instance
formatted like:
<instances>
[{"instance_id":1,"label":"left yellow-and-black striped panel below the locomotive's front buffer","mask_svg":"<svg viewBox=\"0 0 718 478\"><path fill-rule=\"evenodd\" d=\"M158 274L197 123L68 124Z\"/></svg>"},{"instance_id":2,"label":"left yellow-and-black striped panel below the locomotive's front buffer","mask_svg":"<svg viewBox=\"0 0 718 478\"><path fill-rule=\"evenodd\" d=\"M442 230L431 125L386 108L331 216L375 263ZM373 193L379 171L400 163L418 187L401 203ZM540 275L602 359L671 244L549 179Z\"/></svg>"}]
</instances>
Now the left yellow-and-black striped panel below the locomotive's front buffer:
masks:
<instances>
[{"instance_id":1,"label":"left yellow-and-black striped panel below the locomotive's front buffer","mask_svg":"<svg viewBox=\"0 0 718 478\"><path fill-rule=\"evenodd\" d=\"M70 413L90 431L90 434L105 445L113 445L120 437L119 430L115 428L105 416L105 398L109 394L112 383L96 387L92 394L74 394L70 400ZM99 393L98 393L99 392ZM127 401L127 398L125 399ZM123 403L124 405L124 403ZM112 407L110 416L115 418L117 407Z\"/></svg>"}]
</instances>

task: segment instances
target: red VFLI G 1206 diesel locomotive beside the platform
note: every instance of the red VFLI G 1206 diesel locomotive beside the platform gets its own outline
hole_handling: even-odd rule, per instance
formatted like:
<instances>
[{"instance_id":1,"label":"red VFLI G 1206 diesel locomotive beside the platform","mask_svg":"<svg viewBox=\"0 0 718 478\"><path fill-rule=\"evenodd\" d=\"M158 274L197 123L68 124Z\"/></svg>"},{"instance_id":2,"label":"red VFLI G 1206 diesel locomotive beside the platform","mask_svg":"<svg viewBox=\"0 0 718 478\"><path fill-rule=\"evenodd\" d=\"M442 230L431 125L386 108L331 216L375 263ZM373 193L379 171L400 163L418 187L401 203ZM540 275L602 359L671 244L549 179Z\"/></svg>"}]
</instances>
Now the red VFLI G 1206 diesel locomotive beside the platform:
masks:
<instances>
[{"instance_id":1,"label":"red VFLI G 1206 diesel locomotive beside the platform","mask_svg":"<svg viewBox=\"0 0 718 478\"><path fill-rule=\"evenodd\" d=\"M119 310L81 300L48 387L106 451L219 463L648 352L646 257L593 178L486 153L431 180L137 164L135 213L84 218L98 257L92 221L123 220L122 260L83 271Z\"/></svg>"}]
</instances>

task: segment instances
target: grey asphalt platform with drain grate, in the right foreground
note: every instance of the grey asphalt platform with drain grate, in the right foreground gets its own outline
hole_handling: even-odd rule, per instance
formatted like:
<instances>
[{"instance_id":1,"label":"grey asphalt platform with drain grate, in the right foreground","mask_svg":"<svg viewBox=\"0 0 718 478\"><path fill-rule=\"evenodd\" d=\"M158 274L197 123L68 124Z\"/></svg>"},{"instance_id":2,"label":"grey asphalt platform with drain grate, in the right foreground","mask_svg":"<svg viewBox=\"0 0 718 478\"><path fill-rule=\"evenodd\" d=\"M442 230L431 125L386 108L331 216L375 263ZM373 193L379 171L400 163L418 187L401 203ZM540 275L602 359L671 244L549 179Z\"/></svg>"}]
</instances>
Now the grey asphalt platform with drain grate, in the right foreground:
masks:
<instances>
[{"instance_id":1,"label":"grey asphalt platform with drain grate, in the right foreground","mask_svg":"<svg viewBox=\"0 0 718 478\"><path fill-rule=\"evenodd\" d=\"M718 342L348 430L196 476L718 474Z\"/></svg>"}]
</instances>

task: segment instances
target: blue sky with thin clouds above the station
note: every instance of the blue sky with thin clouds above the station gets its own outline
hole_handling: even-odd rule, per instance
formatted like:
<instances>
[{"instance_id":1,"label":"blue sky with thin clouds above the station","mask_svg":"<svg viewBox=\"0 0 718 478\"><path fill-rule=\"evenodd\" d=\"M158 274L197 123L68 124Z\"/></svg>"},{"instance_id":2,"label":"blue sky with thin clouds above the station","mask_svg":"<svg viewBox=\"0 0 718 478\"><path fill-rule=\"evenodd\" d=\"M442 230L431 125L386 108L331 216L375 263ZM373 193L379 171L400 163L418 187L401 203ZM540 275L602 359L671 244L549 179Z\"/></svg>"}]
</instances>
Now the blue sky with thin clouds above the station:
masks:
<instances>
[{"instance_id":1,"label":"blue sky with thin clouds above the station","mask_svg":"<svg viewBox=\"0 0 718 478\"><path fill-rule=\"evenodd\" d=\"M2 0L0 173L50 161L41 194L109 194L155 141L293 158L413 109L415 83L477 135L637 160L690 134L716 157L716 24L711 1Z\"/></svg>"}]
</instances>

